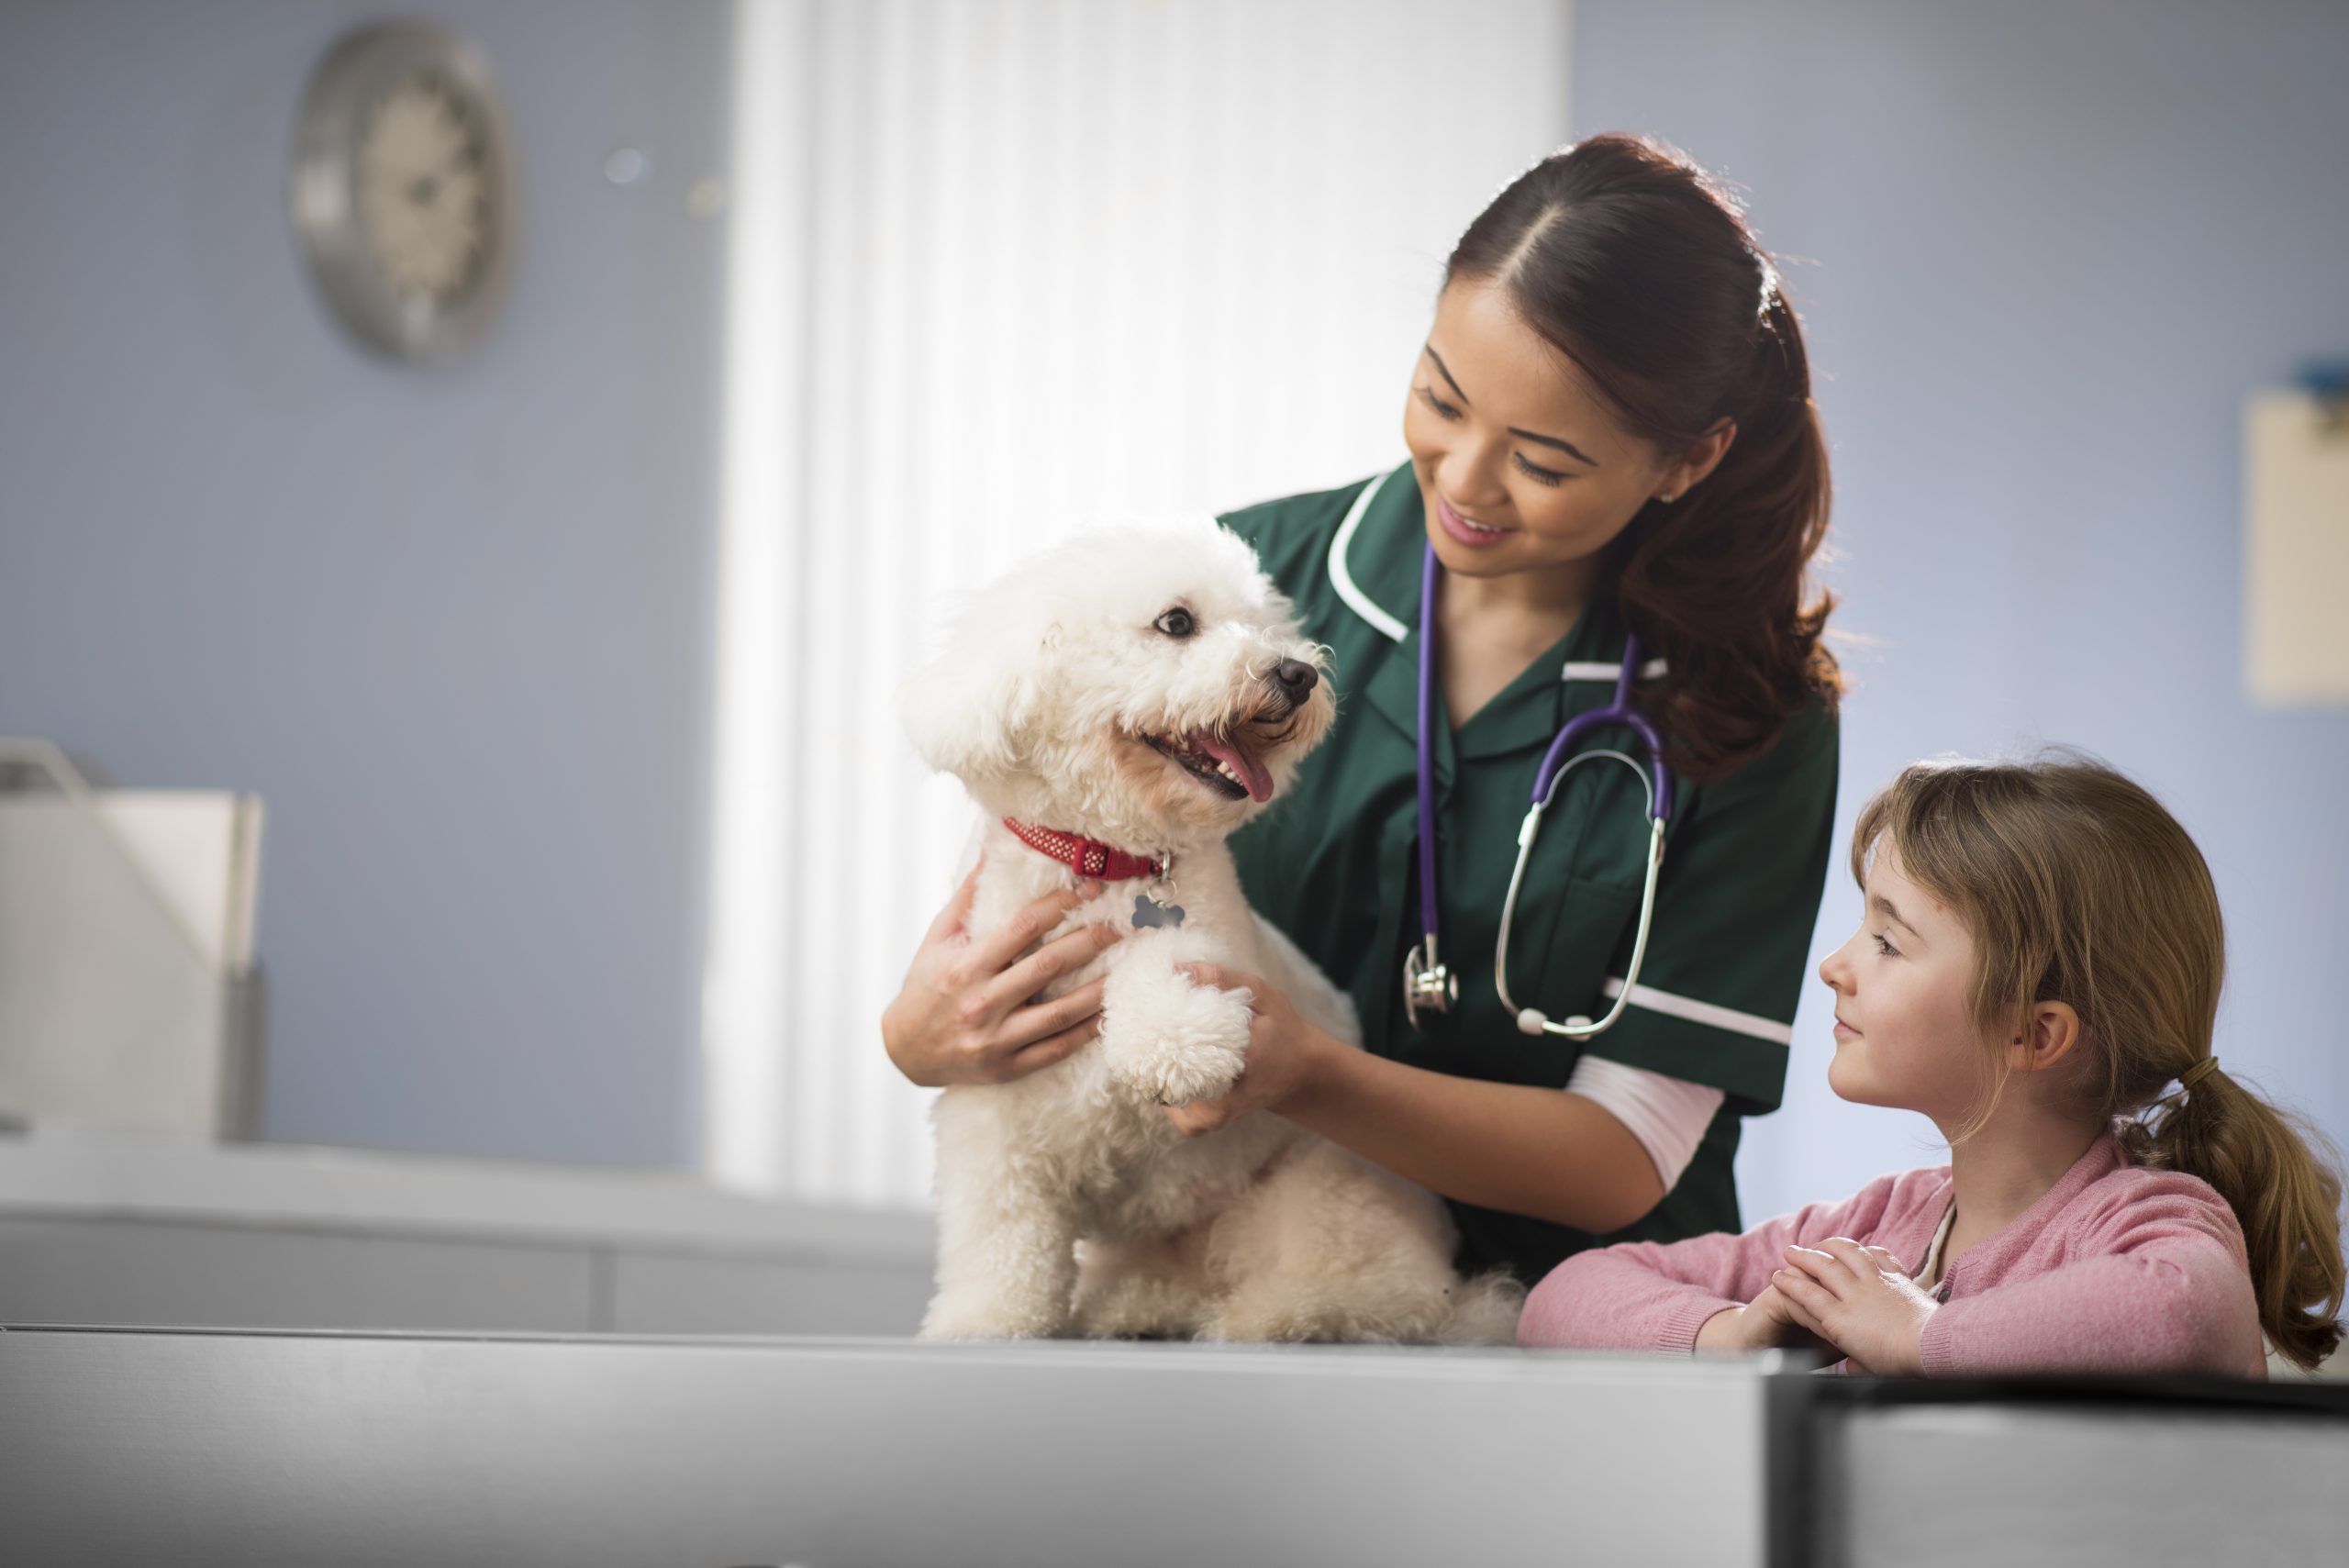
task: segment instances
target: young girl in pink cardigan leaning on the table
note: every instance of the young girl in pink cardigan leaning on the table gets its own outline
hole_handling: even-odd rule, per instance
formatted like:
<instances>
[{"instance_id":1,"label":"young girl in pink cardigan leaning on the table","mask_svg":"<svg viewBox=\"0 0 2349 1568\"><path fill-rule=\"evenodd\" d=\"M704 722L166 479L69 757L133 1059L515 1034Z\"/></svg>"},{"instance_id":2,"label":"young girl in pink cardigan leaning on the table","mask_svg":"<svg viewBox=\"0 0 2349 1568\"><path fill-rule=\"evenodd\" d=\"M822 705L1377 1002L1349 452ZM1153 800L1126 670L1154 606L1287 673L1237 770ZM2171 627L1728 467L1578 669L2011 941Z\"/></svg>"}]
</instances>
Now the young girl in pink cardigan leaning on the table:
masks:
<instances>
[{"instance_id":1,"label":"young girl in pink cardigan leaning on the table","mask_svg":"<svg viewBox=\"0 0 2349 1568\"><path fill-rule=\"evenodd\" d=\"M2210 1054L2225 939L2185 829L2072 756L1917 763L1851 836L1828 1084L1950 1164L1745 1235L1586 1251L1525 1345L1818 1343L1865 1373L2267 1376L2342 1338L2340 1176ZM2168 1084L2175 1082L2175 1089Z\"/></svg>"}]
</instances>

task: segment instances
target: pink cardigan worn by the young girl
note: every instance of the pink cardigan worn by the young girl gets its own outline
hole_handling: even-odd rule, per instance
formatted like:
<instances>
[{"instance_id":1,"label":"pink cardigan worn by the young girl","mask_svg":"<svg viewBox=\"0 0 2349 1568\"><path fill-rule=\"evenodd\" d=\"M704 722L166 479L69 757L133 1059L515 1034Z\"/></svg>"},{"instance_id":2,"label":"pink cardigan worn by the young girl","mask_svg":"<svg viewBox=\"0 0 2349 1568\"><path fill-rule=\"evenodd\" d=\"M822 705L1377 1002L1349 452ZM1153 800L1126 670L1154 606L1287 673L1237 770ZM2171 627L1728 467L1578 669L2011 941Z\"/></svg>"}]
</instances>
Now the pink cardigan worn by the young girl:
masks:
<instances>
[{"instance_id":1,"label":"pink cardigan worn by the young girl","mask_svg":"<svg viewBox=\"0 0 2349 1568\"><path fill-rule=\"evenodd\" d=\"M1769 1286L1788 1244L1851 1237L1924 1268L1950 1167L1879 1176L1745 1235L1586 1251L1534 1286L1520 1345L1691 1352L1696 1331ZM2006 1230L1947 1261L1924 1329L1929 1376L1992 1371L2267 1376L2243 1228L2203 1181L2128 1164L2098 1138Z\"/></svg>"}]
</instances>

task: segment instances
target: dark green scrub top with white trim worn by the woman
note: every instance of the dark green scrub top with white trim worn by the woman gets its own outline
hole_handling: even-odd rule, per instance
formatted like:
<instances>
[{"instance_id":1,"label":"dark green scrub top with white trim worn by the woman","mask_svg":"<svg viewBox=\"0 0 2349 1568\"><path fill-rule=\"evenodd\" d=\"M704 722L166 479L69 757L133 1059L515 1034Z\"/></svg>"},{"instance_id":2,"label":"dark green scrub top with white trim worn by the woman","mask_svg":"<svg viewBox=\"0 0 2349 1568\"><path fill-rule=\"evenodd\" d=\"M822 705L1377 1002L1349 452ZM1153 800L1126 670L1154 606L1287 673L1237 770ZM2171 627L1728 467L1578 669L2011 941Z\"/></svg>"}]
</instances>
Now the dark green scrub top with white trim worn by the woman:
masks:
<instances>
[{"instance_id":1,"label":"dark green scrub top with white trim worn by the woman","mask_svg":"<svg viewBox=\"0 0 2349 1568\"><path fill-rule=\"evenodd\" d=\"M1590 1042L1525 1035L1501 1007L1492 948L1534 770L1557 730L1607 707L1623 660L1611 594L1454 732L1435 692L1435 878L1449 1014L1402 1012L1402 960L1419 944L1419 573L1426 549L1409 465L1341 491L1221 519L1257 547L1334 653L1337 725L1266 812L1233 840L1240 883L1330 979L1353 993L1362 1042L1416 1068L1562 1089L1588 1049L1724 1091L1689 1169L1651 1214L1590 1235L1452 1204L1461 1265L1534 1282L1609 1242L1738 1230L1738 1122L1778 1106L1795 1002L1835 824L1837 725L1799 711L1759 758L1708 784L1675 777L1647 965L1630 1007ZM1604 735L1597 744L1614 744ZM1553 1019L1602 1016L1630 960L1647 878L1647 791L1628 768L1576 768L1543 815L1517 892L1510 991Z\"/></svg>"}]
</instances>

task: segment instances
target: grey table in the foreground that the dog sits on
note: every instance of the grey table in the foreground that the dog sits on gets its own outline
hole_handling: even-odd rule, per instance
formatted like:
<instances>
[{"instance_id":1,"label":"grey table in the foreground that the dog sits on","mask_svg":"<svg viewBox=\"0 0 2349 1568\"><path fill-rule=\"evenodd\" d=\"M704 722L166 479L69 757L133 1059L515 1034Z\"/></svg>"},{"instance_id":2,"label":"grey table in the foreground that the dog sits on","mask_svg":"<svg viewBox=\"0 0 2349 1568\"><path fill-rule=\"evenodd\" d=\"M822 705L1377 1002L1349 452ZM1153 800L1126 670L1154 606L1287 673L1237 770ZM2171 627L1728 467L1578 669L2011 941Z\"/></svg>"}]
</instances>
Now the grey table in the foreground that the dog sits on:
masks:
<instances>
[{"instance_id":1,"label":"grey table in the foreground that the dog sits on","mask_svg":"<svg viewBox=\"0 0 2349 1568\"><path fill-rule=\"evenodd\" d=\"M0 1561L2335 1563L2349 1387L1788 1357L0 1331Z\"/></svg>"}]
</instances>

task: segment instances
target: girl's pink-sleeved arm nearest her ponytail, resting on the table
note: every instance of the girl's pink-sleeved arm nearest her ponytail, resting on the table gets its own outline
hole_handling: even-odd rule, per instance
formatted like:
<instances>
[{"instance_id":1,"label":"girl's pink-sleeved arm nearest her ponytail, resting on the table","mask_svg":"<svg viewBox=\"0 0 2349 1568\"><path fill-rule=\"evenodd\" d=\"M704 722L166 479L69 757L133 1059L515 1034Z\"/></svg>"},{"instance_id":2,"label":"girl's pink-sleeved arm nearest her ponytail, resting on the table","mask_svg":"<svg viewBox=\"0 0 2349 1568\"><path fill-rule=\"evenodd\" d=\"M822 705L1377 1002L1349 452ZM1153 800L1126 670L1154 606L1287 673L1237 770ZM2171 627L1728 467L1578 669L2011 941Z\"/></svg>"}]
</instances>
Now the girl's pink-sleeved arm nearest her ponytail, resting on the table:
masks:
<instances>
[{"instance_id":1,"label":"girl's pink-sleeved arm nearest her ponytail, resting on the table","mask_svg":"<svg viewBox=\"0 0 2349 1568\"><path fill-rule=\"evenodd\" d=\"M2140 1192L2091 1221L2077 1246L2093 1256L1938 1307L1917 1347L1924 1371L2241 1376L2260 1364L2241 1232L2208 1195Z\"/></svg>"}]
</instances>

